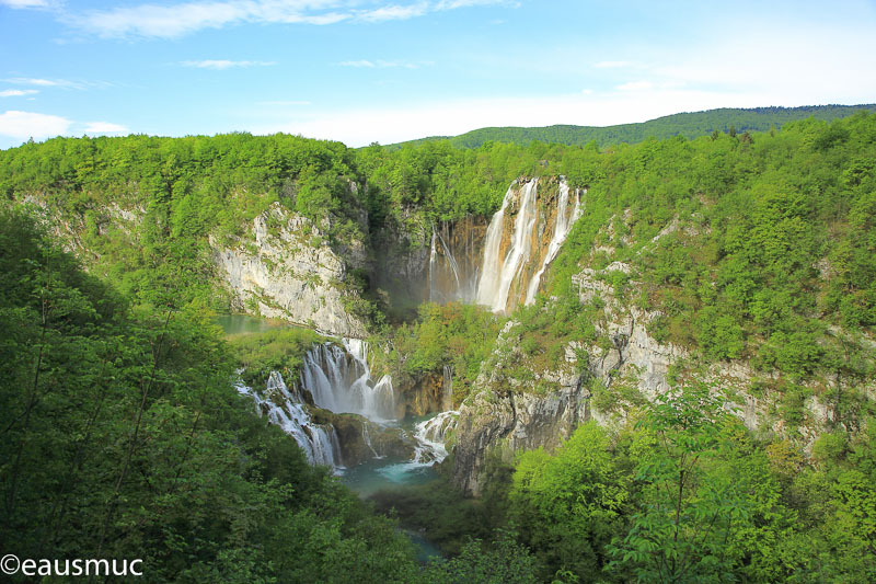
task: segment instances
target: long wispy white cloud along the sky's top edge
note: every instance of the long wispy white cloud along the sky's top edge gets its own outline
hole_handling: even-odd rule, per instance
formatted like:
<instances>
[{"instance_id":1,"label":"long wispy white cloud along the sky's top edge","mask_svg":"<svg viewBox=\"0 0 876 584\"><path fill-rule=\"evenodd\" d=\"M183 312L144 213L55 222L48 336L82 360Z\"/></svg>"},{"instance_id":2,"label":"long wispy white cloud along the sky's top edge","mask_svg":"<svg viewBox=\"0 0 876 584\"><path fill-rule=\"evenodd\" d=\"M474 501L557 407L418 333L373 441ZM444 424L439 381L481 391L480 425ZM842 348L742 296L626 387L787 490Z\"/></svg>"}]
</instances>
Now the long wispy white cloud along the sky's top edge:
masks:
<instances>
[{"instance_id":1,"label":"long wispy white cloud along the sky's top edge","mask_svg":"<svg viewBox=\"0 0 876 584\"><path fill-rule=\"evenodd\" d=\"M203 0L92 10L68 15L66 20L74 28L104 38L173 38L205 28L222 28L244 23L380 23L408 20L430 12L497 3L507 1L419 0L384 3L374 0Z\"/></svg>"}]
</instances>

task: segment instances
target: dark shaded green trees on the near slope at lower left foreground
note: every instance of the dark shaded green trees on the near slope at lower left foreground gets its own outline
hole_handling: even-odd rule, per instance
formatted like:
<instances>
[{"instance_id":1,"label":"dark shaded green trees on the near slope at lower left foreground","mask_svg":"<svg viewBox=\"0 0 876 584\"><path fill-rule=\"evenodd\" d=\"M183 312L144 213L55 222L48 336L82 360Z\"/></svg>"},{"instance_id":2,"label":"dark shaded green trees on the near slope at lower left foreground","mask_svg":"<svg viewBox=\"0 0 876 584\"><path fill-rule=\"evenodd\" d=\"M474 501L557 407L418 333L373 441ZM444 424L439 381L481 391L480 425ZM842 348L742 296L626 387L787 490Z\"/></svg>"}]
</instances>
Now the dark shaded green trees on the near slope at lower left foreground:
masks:
<instances>
[{"instance_id":1,"label":"dark shaded green trees on the near slope at lower left foreground","mask_svg":"<svg viewBox=\"0 0 876 584\"><path fill-rule=\"evenodd\" d=\"M408 582L410 542L232 388L197 306L135 308L0 210L0 546L146 582Z\"/></svg>"}]
</instances>

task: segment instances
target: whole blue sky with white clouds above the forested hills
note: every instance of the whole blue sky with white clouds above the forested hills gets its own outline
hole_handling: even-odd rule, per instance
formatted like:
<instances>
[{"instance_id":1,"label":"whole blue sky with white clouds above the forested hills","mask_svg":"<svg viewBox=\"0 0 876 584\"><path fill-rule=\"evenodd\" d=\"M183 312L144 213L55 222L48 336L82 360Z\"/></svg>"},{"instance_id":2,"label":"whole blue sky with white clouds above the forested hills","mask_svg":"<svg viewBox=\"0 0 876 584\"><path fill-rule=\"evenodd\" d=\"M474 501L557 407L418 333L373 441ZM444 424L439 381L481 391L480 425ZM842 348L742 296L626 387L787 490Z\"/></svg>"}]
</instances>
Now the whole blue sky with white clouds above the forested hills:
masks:
<instances>
[{"instance_id":1,"label":"whole blue sky with white clouds above the forested hills","mask_svg":"<svg viewBox=\"0 0 876 584\"><path fill-rule=\"evenodd\" d=\"M876 102L876 2L0 0L0 148Z\"/></svg>"}]
</instances>

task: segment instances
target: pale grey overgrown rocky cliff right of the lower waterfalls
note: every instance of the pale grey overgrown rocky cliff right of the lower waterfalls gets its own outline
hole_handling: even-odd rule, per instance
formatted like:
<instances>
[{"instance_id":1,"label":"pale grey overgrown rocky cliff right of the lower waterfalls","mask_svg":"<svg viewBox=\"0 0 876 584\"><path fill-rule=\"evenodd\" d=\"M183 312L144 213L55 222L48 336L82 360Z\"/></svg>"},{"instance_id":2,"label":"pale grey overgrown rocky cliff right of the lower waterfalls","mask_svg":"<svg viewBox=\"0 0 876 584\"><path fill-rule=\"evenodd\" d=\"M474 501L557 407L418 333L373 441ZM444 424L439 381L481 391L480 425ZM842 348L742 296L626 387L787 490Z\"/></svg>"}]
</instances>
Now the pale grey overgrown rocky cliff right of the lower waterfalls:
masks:
<instances>
[{"instance_id":1,"label":"pale grey overgrown rocky cliff right of the lower waterfalls","mask_svg":"<svg viewBox=\"0 0 876 584\"><path fill-rule=\"evenodd\" d=\"M480 494L491 455L510 463L518 450L556 447L584 421L612 424L625 417L627 403L618 402L600 411L588 386L610 392L622 383L642 399L652 400L670 389L675 373L684 381L711 383L731 396L736 403L728 406L750 430L787 433L772 411L776 397L751 394L752 383L764 374L742 360L696 364L684 348L657 342L648 333L648 324L659 313L616 298L607 283L612 271L632 274L629 265L614 262L603 271L585 268L573 277L581 304L597 300L603 306L601 318L593 324L598 335L609 342L569 343L565 363L556 370L521 367L526 356L514 333L516 323L506 325L496 352L482 367L475 391L460 408L452 468L459 488ZM581 358L586 360L579 362ZM806 422L794 432L808 448L830 426L834 413L816 396L807 399L804 409Z\"/></svg>"}]
</instances>

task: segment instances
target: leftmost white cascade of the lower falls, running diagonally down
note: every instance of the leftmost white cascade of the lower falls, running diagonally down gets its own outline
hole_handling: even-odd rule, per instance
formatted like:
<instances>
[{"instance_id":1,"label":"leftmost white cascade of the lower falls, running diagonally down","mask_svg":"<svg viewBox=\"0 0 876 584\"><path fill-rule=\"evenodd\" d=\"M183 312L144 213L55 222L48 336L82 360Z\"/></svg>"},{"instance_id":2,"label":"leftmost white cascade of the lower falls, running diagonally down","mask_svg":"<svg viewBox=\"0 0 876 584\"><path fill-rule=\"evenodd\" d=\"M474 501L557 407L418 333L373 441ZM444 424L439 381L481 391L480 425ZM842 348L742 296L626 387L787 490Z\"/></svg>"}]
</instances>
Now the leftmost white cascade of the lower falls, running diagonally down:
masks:
<instances>
[{"instance_id":1,"label":"leftmost white cascade of the lower falls, running diagonally down","mask_svg":"<svg viewBox=\"0 0 876 584\"><path fill-rule=\"evenodd\" d=\"M297 389L290 391L278 371L270 371L264 397L243 383L235 387L239 393L255 401L260 415L267 413L272 424L280 426L298 443L311 465L341 467L341 446L334 428L313 423L301 403L301 394Z\"/></svg>"}]
</instances>

